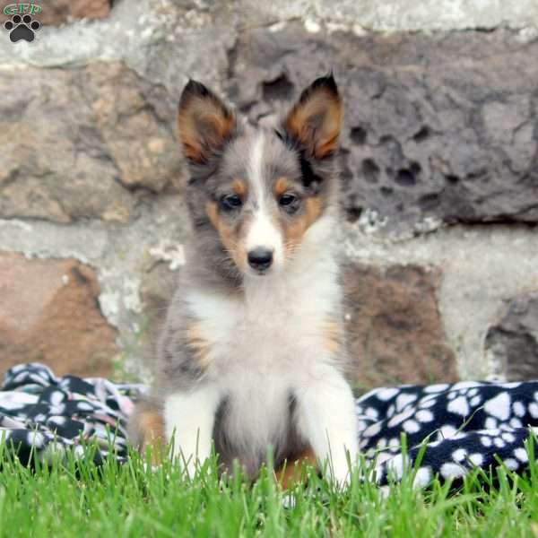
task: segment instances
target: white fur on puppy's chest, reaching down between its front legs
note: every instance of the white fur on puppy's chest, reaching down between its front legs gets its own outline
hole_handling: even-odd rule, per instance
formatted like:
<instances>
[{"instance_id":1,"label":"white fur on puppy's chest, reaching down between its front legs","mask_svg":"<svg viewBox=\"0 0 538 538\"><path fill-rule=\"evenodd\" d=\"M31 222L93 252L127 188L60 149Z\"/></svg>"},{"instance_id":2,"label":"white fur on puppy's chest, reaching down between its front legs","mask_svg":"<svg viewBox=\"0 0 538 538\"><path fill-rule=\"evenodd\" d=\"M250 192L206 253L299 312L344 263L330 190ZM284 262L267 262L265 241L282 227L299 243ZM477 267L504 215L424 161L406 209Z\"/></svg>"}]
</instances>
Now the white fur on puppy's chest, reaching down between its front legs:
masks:
<instances>
[{"instance_id":1,"label":"white fur on puppy's chest, reaching down between its front legs","mask_svg":"<svg viewBox=\"0 0 538 538\"><path fill-rule=\"evenodd\" d=\"M285 273L247 280L236 297L187 295L211 349L206 375L228 401L225 428L243 453L279 443L291 393L331 360L323 331L339 312L338 266L319 246L308 258L303 251Z\"/></svg>"}]
</instances>

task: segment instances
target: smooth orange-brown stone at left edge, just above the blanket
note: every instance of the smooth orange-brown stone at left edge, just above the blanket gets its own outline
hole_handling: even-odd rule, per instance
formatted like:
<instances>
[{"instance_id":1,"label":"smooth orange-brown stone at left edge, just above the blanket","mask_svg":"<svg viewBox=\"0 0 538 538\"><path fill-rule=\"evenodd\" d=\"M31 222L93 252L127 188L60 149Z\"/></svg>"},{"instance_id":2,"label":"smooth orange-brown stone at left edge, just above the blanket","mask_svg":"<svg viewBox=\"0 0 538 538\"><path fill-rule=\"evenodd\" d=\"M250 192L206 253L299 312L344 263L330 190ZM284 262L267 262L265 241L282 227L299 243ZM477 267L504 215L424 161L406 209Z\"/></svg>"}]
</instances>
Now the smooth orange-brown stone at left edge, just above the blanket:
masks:
<instances>
[{"instance_id":1,"label":"smooth orange-brown stone at left edge, just above the blanket","mask_svg":"<svg viewBox=\"0 0 538 538\"><path fill-rule=\"evenodd\" d=\"M94 271L73 259L0 254L0 367L40 361L59 374L107 376L116 331L97 306Z\"/></svg>"}]
</instances>

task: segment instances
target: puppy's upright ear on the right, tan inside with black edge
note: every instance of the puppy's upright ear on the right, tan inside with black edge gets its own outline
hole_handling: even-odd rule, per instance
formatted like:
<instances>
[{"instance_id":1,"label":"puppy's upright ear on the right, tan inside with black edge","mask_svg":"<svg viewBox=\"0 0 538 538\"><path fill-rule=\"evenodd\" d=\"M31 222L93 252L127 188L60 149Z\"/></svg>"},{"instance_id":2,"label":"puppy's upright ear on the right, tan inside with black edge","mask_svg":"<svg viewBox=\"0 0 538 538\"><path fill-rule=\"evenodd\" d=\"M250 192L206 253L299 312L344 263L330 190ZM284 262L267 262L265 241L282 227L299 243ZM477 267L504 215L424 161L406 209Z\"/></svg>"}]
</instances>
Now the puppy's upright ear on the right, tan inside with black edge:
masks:
<instances>
[{"instance_id":1,"label":"puppy's upright ear on the right, tan inside with black edge","mask_svg":"<svg viewBox=\"0 0 538 538\"><path fill-rule=\"evenodd\" d=\"M284 128L316 159L338 149L343 105L333 74L318 78L300 94Z\"/></svg>"}]
</instances>

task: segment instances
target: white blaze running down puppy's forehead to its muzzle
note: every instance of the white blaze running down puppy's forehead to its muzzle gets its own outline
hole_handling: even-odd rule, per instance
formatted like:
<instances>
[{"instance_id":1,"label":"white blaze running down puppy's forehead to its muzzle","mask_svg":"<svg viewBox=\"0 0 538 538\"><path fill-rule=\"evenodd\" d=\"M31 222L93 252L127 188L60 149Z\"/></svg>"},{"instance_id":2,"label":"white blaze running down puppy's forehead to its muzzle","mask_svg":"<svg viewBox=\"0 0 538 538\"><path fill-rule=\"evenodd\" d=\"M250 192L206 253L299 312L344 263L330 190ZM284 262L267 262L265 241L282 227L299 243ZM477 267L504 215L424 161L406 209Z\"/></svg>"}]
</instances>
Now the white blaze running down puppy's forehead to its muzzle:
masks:
<instances>
[{"instance_id":1,"label":"white blaze running down puppy's forehead to its muzzle","mask_svg":"<svg viewBox=\"0 0 538 538\"><path fill-rule=\"evenodd\" d=\"M260 132L256 136L249 156L248 173L256 207L250 228L247 231L245 247L247 253L256 248L272 251L272 269L278 269L283 263L282 233L274 225L270 210L272 193L268 192L265 187L264 143L265 135Z\"/></svg>"}]
</instances>

